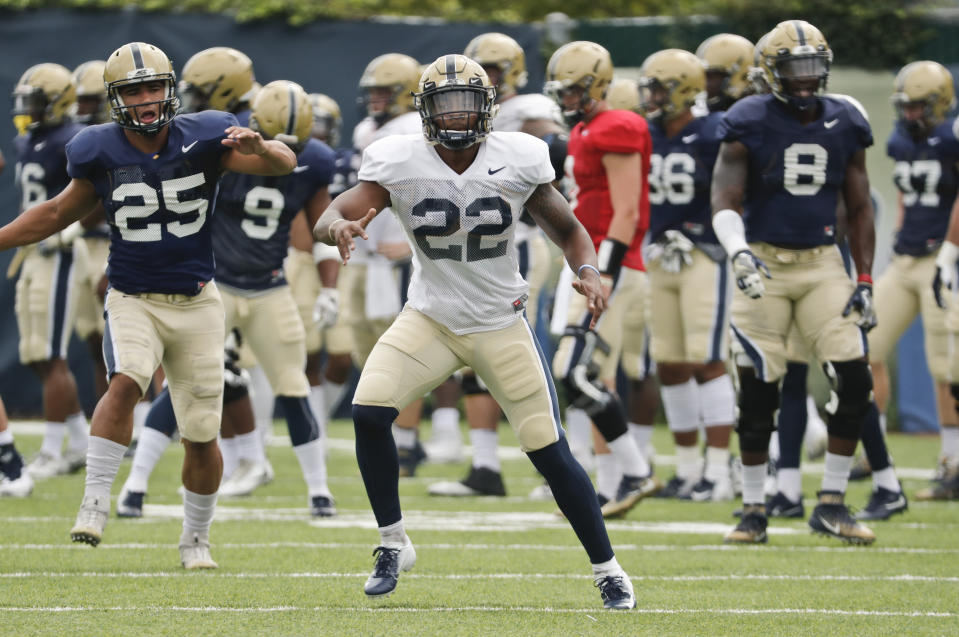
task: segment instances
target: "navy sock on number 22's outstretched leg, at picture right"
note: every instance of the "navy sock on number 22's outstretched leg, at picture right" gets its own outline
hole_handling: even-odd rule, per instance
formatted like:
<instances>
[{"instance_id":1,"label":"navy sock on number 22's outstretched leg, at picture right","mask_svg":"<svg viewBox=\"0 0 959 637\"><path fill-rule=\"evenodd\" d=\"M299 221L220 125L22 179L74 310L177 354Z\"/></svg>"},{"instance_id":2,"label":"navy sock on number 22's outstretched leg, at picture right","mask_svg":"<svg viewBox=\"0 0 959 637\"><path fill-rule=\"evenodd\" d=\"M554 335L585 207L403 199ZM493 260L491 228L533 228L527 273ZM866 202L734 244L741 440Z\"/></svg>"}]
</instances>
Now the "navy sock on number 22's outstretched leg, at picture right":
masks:
<instances>
[{"instance_id":1,"label":"navy sock on number 22's outstretched leg, at picture right","mask_svg":"<svg viewBox=\"0 0 959 637\"><path fill-rule=\"evenodd\" d=\"M526 455L549 483L556 504L586 549L589 561L600 564L613 559L613 547L609 543L593 483L573 458L566 438Z\"/></svg>"}]
</instances>

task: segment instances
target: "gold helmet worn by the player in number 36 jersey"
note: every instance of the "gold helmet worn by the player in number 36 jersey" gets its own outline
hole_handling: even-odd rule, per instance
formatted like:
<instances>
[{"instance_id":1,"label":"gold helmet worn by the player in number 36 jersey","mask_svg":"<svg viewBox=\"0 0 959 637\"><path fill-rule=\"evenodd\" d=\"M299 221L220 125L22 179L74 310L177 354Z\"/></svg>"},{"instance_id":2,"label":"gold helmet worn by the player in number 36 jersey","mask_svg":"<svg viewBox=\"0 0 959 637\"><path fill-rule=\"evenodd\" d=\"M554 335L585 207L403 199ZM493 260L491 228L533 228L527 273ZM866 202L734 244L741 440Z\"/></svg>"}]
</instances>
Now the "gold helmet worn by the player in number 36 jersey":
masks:
<instances>
[{"instance_id":1,"label":"gold helmet worn by the player in number 36 jersey","mask_svg":"<svg viewBox=\"0 0 959 637\"><path fill-rule=\"evenodd\" d=\"M646 117L670 120L696 103L706 90L702 61L682 49L664 49L650 55L639 71L639 94Z\"/></svg>"}]
</instances>

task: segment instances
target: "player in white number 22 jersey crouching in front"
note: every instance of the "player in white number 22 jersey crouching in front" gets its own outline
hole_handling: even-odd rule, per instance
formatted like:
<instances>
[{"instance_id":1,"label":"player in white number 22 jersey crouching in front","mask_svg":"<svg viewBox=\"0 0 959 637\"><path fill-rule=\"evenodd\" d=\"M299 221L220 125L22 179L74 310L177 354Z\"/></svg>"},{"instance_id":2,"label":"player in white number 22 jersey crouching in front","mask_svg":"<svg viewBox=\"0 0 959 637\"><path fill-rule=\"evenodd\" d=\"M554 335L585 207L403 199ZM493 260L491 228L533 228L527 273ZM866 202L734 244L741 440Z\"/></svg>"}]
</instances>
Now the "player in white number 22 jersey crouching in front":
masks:
<instances>
[{"instance_id":1,"label":"player in white number 22 jersey crouching in front","mask_svg":"<svg viewBox=\"0 0 959 637\"><path fill-rule=\"evenodd\" d=\"M392 205L415 245L409 301L373 348L353 399L357 460L381 537L364 590L392 593L399 573L416 561L403 526L390 424L398 409L469 365L549 481L586 548L604 605L632 608L632 585L613 555L589 477L566 444L546 361L517 311L527 284L511 244L524 204L581 275L573 285L593 322L605 309L596 257L551 185L546 144L491 132L494 94L483 68L465 56L431 63L416 94L423 132L370 145L359 184L314 229L346 262L354 237Z\"/></svg>"}]
</instances>

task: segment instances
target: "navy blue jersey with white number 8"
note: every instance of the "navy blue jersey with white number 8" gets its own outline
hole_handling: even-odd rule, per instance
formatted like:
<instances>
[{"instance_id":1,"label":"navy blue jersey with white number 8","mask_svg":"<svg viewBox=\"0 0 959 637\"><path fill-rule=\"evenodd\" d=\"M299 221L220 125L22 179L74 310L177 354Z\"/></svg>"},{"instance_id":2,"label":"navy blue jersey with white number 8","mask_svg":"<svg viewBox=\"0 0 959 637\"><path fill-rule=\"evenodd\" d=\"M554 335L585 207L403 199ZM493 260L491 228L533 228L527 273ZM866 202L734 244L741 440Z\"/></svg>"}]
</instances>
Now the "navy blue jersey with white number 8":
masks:
<instances>
[{"instance_id":1,"label":"navy blue jersey with white number 8","mask_svg":"<svg viewBox=\"0 0 959 637\"><path fill-rule=\"evenodd\" d=\"M743 200L748 241L795 247L836 240L836 205L849 160L872 145L866 118L850 102L820 98L819 118L801 124L773 95L753 95L726 111L723 141L749 149Z\"/></svg>"}]
</instances>

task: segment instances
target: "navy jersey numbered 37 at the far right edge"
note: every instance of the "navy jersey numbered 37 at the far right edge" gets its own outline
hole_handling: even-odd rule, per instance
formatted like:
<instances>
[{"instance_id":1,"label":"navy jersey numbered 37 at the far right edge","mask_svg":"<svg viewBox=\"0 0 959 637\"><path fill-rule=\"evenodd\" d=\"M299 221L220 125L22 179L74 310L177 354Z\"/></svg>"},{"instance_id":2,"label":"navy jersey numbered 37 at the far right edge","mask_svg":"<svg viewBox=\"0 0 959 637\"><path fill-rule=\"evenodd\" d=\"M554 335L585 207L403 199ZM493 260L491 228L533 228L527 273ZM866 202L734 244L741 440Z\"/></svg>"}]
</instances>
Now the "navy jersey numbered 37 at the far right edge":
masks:
<instances>
[{"instance_id":1,"label":"navy jersey numbered 37 at the far right edge","mask_svg":"<svg viewBox=\"0 0 959 637\"><path fill-rule=\"evenodd\" d=\"M896 162L893 181L902 193L902 227L893 251L921 256L939 247L959 192L959 120L949 118L925 139L896 124L886 154Z\"/></svg>"}]
</instances>

